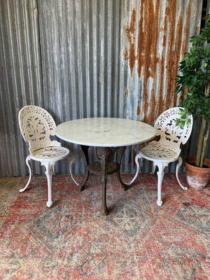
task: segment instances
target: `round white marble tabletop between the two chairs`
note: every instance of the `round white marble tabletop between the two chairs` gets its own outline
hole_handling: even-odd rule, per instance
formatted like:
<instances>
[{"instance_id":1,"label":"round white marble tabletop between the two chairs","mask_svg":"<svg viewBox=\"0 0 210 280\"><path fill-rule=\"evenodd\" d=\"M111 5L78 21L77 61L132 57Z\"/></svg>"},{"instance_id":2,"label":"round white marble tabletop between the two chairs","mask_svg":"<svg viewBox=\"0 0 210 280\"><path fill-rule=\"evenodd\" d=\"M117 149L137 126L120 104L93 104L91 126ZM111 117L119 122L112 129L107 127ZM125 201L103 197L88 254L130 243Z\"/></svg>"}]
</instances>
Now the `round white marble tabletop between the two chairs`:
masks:
<instances>
[{"instance_id":1,"label":"round white marble tabletop between the two chairs","mask_svg":"<svg viewBox=\"0 0 210 280\"><path fill-rule=\"evenodd\" d=\"M144 143L155 137L151 125L124 118L81 118L61 123L55 134L65 141L85 146L120 147Z\"/></svg>"}]
</instances>

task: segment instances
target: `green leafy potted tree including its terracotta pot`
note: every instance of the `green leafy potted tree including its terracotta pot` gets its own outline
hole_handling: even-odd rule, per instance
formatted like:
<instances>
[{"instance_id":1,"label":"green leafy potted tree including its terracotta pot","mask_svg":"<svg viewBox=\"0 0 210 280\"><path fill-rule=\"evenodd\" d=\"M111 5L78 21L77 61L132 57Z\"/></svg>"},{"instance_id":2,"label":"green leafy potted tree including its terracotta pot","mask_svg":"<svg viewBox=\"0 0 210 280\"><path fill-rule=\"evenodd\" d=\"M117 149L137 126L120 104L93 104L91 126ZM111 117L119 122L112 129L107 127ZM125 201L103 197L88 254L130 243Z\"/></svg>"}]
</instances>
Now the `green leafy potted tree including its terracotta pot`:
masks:
<instances>
[{"instance_id":1,"label":"green leafy potted tree including its terracotta pot","mask_svg":"<svg viewBox=\"0 0 210 280\"><path fill-rule=\"evenodd\" d=\"M197 155L184 161L188 185L193 188L204 188L210 178L210 160L205 158L210 129L210 15L205 19L200 34L190 37L192 48L181 60L176 76L176 93L183 93L180 105L184 108L176 125L183 127L188 113L200 120ZM188 170L191 167L193 171ZM204 174L206 182L200 181L200 173Z\"/></svg>"}]
</instances>

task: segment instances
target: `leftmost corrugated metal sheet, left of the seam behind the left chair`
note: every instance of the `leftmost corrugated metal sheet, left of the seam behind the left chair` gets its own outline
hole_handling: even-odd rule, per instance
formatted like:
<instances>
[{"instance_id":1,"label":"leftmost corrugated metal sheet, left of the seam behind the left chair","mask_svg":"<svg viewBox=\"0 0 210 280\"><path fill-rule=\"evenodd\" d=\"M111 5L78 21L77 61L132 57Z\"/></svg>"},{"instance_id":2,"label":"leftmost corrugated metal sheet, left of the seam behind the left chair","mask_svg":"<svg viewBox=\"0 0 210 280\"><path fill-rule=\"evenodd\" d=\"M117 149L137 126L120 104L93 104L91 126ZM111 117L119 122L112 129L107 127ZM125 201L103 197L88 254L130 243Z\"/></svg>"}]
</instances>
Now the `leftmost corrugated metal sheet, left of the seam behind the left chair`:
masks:
<instances>
[{"instance_id":1,"label":"leftmost corrugated metal sheet, left of the seam behind the left chair","mask_svg":"<svg viewBox=\"0 0 210 280\"><path fill-rule=\"evenodd\" d=\"M39 38L36 1L0 1L0 176L28 173L18 112L43 105Z\"/></svg>"}]
</instances>

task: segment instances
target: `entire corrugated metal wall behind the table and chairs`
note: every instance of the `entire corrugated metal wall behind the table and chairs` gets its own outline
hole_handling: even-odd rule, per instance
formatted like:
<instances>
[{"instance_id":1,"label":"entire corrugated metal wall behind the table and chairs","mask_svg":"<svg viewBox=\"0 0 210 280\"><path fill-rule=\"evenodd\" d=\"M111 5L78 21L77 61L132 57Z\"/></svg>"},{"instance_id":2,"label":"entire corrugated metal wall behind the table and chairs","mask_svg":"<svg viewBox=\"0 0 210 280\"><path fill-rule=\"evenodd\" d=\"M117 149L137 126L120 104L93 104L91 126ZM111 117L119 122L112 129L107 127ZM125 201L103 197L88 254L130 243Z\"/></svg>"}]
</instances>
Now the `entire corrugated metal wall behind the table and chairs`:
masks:
<instances>
[{"instance_id":1,"label":"entire corrugated metal wall behind the table and chairs","mask_svg":"<svg viewBox=\"0 0 210 280\"><path fill-rule=\"evenodd\" d=\"M57 124L118 117L153 125L177 104L174 78L201 15L200 0L0 0L0 176L28 173L22 106L42 106ZM78 146L62 144L76 155L73 171L84 172ZM138 148L125 151L123 172L134 172ZM183 155L194 150L191 140ZM33 171L43 169L34 163ZM55 171L69 173L68 162Z\"/></svg>"}]
</instances>

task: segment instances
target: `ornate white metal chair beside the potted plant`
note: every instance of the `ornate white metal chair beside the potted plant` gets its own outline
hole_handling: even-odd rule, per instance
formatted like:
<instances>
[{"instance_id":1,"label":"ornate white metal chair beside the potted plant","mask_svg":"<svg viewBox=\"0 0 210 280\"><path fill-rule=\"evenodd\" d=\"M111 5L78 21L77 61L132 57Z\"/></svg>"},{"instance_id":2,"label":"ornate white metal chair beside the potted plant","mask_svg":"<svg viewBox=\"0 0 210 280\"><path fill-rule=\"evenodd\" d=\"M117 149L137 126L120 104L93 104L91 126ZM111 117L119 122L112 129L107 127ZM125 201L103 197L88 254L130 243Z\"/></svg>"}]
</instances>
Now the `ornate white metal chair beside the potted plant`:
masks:
<instances>
[{"instance_id":1,"label":"ornate white metal chair beside the potted plant","mask_svg":"<svg viewBox=\"0 0 210 280\"><path fill-rule=\"evenodd\" d=\"M127 183L127 185L130 186L137 178L137 175L139 174L139 159L145 158L146 160L153 161L152 174L155 173L155 168L158 166L158 206L162 205L162 179L165 174L164 169L169 165L169 162L175 162L178 160L176 165L176 179L183 190L188 189L179 181L179 167L181 167L182 164L182 158L179 155L181 153L181 144L186 144L190 137L193 128L193 116L188 116L188 118L190 118L190 124L186 124L183 128L179 125L176 126L175 121L181 117L179 115L181 112L180 109L181 107L168 109L158 117L154 127L157 130L156 136L160 136L160 140L152 141L148 146L142 148L136 155L135 162L137 164L137 172L132 181Z\"/></svg>"}]
</instances>

